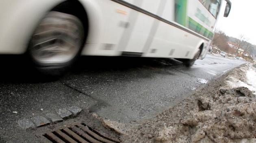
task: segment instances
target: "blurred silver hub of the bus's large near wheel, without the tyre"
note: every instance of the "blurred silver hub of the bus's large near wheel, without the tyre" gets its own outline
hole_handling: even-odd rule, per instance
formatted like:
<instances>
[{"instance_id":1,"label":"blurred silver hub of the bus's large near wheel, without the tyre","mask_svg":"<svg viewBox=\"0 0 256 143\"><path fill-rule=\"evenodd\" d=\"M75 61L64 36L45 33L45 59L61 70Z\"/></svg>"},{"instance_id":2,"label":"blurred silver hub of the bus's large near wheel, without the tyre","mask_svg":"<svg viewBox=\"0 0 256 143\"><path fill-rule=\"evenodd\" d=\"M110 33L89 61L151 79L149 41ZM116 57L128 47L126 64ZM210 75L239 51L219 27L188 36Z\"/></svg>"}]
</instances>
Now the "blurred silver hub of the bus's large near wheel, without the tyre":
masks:
<instances>
[{"instance_id":1,"label":"blurred silver hub of the bus's large near wheel, without the tyre","mask_svg":"<svg viewBox=\"0 0 256 143\"><path fill-rule=\"evenodd\" d=\"M79 25L66 13L50 12L37 27L30 46L33 59L39 63L65 63L80 49ZM74 16L73 16L74 17Z\"/></svg>"}]
</instances>

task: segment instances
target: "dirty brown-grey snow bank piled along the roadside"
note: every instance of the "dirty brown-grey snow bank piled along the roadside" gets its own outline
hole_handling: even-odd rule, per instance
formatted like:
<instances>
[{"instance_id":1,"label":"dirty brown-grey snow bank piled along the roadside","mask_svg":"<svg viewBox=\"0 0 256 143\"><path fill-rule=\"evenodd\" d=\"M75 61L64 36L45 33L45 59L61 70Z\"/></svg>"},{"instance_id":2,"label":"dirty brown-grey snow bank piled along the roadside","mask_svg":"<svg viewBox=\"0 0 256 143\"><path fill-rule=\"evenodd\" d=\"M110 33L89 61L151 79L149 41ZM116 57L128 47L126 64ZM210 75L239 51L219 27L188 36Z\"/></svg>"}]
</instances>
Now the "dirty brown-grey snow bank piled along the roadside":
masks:
<instances>
[{"instance_id":1,"label":"dirty brown-grey snow bank piled along the roadside","mask_svg":"<svg viewBox=\"0 0 256 143\"><path fill-rule=\"evenodd\" d=\"M247 64L233 69L155 118L130 128L122 141L256 143L254 79L256 72Z\"/></svg>"}]
</instances>

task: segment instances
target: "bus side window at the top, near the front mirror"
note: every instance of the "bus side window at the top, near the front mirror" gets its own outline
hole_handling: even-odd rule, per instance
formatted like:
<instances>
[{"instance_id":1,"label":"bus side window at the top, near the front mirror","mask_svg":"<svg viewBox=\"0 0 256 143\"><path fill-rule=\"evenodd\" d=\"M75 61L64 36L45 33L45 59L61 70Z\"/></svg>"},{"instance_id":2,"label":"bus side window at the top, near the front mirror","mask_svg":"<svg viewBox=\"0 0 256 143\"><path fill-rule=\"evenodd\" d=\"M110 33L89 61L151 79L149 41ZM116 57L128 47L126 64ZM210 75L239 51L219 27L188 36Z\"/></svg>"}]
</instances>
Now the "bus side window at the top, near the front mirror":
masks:
<instances>
[{"instance_id":1,"label":"bus side window at the top, near the front mirror","mask_svg":"<svg viewBox=\"0 0 256 143\"><path fill-rule=\"evenodd\" d=\"M219 14L221 0L199 0L204 7L215 17Z\"/></svg>"}]
</instances>

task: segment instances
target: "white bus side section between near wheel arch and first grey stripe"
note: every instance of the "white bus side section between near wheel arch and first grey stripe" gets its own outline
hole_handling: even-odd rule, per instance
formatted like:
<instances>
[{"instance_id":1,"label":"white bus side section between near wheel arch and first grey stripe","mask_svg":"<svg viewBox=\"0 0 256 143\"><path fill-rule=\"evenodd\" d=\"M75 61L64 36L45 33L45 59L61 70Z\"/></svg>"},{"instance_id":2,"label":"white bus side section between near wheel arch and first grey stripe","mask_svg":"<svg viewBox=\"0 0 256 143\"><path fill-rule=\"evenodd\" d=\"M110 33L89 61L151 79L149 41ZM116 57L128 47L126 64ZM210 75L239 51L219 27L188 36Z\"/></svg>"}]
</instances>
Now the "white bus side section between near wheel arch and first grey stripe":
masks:
<instances>
[{"instance_id":1,"label":"white bus side section between near wheel arch and first grey stripe","mask_svg":"<svg viewBox=\"0 0 256 143\"><path fill-rule=\"evenodd\" d=\"M81 2L84 3L89 17L89 35L82 55L121 55L118 44L128 26L127 21L132 10L111 0Z\"/></svg>"}]
</instances>

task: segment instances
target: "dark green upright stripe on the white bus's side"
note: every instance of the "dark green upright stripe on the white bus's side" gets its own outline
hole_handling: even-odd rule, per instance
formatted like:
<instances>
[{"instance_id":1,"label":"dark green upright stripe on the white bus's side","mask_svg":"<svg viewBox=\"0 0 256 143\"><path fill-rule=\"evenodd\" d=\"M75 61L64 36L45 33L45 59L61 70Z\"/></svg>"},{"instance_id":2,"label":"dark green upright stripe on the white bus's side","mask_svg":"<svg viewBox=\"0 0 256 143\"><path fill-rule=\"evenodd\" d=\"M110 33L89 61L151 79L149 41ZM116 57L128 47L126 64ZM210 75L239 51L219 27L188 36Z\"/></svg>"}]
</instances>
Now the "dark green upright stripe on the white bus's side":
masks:
<instances>
[{"instance_id":1,"label":"dark green upright stripe on the white bus's side","mask_svg":"<svg viewBox=\"0 0 256 143\"><path fill-rule=\"evenodd\" d=\"M186 26L187 0L175 0L175 21Z\"/></svg>"}]
</instances>

